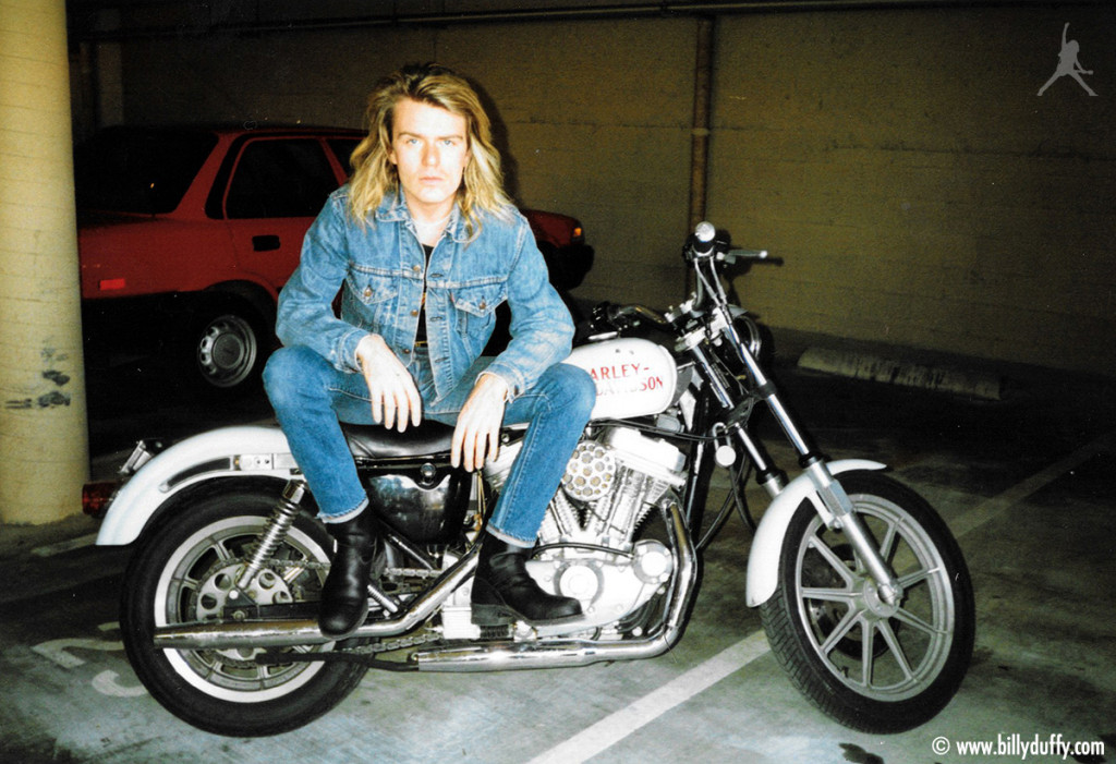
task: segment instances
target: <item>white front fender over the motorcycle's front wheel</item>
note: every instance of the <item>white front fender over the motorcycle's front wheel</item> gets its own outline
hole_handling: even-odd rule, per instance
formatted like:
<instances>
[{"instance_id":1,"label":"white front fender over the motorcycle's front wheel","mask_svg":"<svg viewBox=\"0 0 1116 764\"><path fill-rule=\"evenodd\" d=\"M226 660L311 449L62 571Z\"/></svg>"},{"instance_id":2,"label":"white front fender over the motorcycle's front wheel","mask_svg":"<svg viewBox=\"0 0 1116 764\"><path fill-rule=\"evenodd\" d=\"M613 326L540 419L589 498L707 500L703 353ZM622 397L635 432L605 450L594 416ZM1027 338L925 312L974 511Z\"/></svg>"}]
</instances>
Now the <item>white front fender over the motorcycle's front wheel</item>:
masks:
<instances>
[{"instance_id":1,"label":"white front fender over the motorcycle's front wheel","mask_svg":"<svg viewBox=\"0 0 1116 764\"><path fill-rule=\"evenodd\" d=\"M834 475L850 470L885 470L886 465L867 460L840 460L829 462L826 466ZM801 474L776 496L771 506L763 513L760 525L752 540L752 549L748 554L748 587L745 601L749 608L756 608L775 593L779 582L779 554L782 552L782 539L787 535L787 526L795 511L809 499L822 518L829 512L821 503L814 482L808 474Z\"/></svg>"}]
</instances>

